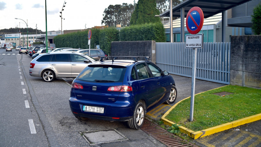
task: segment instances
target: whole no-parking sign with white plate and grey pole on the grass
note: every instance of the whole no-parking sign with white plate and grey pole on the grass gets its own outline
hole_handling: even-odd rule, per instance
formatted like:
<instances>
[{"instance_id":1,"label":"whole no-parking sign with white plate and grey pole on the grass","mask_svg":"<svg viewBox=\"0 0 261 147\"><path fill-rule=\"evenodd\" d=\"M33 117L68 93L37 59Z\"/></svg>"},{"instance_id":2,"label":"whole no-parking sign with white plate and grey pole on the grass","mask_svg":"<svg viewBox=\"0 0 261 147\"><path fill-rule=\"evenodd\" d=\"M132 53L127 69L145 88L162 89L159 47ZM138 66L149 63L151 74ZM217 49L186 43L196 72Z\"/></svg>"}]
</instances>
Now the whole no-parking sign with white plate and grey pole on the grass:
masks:
<instances>
[{"instance_id":1,"label":"whole no-parking sign with white plate and grey pole on the grass","mask_svg":"<svg viewBox=\"0 0 261 147\"><path fill-rule=\"evenodd\" d=\"M199 7L191 8L186 17L186 28L188 29L189 33L197 34L201 30L203 23L204 23L204 14L202 10ZM203 34L186 35L185 48L193 48L189 121L193 121L193 113L194 113L195 76L196 76L196 61L197 61L196 48L202 48L202 46L203 46Z\"/></svg>"}]
</instances>

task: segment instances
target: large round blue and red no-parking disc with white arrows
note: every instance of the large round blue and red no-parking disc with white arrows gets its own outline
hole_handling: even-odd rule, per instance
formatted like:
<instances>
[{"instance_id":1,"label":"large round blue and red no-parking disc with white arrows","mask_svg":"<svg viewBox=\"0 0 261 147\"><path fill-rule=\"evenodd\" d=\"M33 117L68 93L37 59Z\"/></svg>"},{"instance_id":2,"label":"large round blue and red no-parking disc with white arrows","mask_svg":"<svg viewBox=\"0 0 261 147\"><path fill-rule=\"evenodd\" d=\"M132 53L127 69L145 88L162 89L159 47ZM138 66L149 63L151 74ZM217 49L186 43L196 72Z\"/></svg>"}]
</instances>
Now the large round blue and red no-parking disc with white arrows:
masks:
<instances>
[{"instance_id":1,"label":"large round blue and red no-parking disc with white arrows","mask_svg":"<svg viewBox=\"0 0 261 147\"><path fill-rule=\"evenodd\" d=\"M193 7L189 10L186 17L186 28L191 34L197 34L204 23L204 14L199 7Z\"/></svg>"}]
</instances>

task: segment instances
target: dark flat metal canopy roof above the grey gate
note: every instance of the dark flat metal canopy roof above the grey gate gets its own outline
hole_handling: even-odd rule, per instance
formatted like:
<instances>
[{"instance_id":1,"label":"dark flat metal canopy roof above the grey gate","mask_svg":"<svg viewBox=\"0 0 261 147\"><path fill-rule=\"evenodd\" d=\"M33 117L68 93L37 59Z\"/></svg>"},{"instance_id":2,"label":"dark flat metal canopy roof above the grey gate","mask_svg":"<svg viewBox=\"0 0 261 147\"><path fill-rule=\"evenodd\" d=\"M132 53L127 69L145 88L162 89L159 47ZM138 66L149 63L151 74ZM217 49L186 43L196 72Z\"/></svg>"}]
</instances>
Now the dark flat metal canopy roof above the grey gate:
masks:
<instances>
[{"instance_id":1,"label":"dark flat metal canopy roof above the grey gate","mask_svg":"<svg viewBox=\"0 0 261 147\"><path fill-rule=\"evenodd\" d=\"M186 0L172 8L173 17L180 17L180 9L184 8L186 16L192 7L200 7L204 13L204 18L211 17L222 11L238 6L250 0ZM160 14L160 17L169 17L169 10Z\"/></svg>"}]
</instances>

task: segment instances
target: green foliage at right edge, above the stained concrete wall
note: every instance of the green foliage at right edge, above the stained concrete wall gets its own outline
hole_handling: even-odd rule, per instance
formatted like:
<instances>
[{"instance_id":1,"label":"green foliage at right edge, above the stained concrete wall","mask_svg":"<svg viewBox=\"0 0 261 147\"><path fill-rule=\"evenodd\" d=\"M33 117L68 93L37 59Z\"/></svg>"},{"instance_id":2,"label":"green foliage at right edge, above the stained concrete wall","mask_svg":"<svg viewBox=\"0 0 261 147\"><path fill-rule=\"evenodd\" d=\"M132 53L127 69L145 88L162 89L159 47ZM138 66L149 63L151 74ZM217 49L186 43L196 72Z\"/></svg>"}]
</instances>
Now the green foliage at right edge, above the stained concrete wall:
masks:
<instances>
[{"instance_id":1,"label":"green foliage at right edge, above the stained concrete wall","mask_svg":"<svg viewBox=\"0 0 261 147\"><path fill-rule=\"evenodd\" d=\"M253 15L252 16L252 29L255 32L255 35L261 35L261 3L259 3L254 9L253 9Z\"/></svg>"}]
</instances>

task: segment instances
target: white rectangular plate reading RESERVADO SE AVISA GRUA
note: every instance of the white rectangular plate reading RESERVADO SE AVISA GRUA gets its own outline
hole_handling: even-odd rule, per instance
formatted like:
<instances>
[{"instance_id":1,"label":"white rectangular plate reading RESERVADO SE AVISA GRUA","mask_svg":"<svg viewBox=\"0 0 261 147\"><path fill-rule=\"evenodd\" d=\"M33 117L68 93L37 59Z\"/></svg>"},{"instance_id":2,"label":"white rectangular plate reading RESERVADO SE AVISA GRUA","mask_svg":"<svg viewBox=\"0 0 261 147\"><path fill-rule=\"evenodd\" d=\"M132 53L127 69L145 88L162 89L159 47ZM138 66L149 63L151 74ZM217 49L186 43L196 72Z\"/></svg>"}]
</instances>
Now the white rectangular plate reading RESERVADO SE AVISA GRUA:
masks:
<instances>
[{"instance_id":1,"label":"white rectangular plate reading RESERVADO SE AVISA GRUA","mask_svg":"<svg viewBox=\"0 0 261 147\"><path fill-rule=\"evenodd\" d=\"M186 35L185 48L203 48L203 34Z\"/></svg>"}]
</instances>

